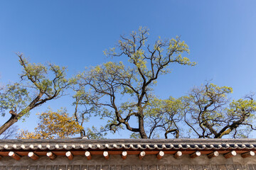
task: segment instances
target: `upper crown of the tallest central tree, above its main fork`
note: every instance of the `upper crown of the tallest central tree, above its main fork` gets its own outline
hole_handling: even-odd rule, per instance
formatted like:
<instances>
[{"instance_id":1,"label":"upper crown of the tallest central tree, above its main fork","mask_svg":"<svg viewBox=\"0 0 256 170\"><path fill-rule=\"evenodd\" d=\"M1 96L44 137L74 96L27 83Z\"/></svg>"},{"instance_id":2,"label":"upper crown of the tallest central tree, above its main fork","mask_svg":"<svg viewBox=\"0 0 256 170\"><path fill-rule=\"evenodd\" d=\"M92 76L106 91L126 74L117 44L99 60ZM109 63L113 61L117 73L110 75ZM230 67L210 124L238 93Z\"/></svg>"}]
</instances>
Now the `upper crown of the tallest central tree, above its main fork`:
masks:
<instances>
[{"instance_id":1,"label":"upper crown of the tallest central tree, above its main fork","mask_svg":"<svg viewBox=\"0 0 256 170\"><path fill-rule=\"evenodd\" d=\"M146 45L147 35L149 35L149 29L140 27L138 32L133 31L127 37L121 35L117 47L105 50L104 53L109 57L128 57L137 74L141 74L141 77L137 78L155 79L159 72L169 73L167 67L172 63L196 65L196 62L191 62L188 57L182 56L189 50L188 45L178 36L171 40L159 38L154 45Z\"/></svg>"}]
</instances>

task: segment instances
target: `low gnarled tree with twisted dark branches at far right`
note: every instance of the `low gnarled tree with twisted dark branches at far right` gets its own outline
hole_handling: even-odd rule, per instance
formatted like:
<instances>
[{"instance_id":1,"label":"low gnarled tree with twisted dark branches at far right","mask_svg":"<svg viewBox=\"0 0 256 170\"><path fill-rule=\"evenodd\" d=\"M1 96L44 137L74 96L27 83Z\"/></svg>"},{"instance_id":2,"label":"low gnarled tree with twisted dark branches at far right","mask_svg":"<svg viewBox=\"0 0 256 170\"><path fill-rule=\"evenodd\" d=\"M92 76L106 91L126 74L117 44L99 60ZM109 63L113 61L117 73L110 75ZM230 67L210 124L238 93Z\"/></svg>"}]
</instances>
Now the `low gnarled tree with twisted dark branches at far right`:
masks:
<instances>
[{"instance_id":1,"label":"low gnarled tree with twisted dark branches at far right","mask_svg":"<svg viewBox=\"0 0 256 170\"><path fill-rule=\"evenodd\" d=\"M183 99L184 122L199 138L247 137L253 128L256 102L252 96L230 101L228 86L206 84L195 87ZM245 128L245 129L243 129Z\"/></svg>"}]
</instances>

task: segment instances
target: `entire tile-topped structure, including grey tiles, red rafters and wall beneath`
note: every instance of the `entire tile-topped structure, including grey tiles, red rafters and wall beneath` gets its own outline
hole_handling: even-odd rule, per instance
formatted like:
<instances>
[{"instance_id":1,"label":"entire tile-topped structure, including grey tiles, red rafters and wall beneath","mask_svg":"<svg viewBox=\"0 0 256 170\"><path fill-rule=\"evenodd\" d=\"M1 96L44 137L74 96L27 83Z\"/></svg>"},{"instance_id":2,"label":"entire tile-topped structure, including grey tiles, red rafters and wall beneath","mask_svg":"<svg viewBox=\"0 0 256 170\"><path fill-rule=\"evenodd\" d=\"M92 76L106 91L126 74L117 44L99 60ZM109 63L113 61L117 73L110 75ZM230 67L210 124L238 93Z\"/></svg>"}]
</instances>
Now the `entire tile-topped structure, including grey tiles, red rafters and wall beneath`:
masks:
<instances>
[{"instance_id":1,"label":"entire tile-topped structure, including grey tiles, red rafters and wall beneath","mask_svg":"<svg viewBox=\"0 0 256 170\"><path fill-rule=\"evenodd\" d=\"M255 152L256 139L0 140L0 170L256 169Z\"/></svg>"}]
</instances>

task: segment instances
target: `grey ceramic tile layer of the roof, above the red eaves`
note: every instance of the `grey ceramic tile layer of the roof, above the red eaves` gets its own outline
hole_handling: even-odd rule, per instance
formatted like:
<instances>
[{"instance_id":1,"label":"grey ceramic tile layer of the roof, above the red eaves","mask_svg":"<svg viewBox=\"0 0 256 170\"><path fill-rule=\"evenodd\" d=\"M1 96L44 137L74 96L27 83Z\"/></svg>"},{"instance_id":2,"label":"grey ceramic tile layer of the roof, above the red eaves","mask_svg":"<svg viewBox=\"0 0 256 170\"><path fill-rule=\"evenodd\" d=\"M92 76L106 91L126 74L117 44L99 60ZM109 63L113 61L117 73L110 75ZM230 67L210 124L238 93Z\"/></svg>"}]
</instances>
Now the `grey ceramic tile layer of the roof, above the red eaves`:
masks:
<instances>
[{"instance_id":1,"label":"grey ceramic tile layer of the roof, above the red eaves","mask_svg":"<svg viewBox=\"0 0 256 170\"><path fill-rule=\"evenodd\" d=\"M53 149L256 149L256 139L175 139L175 140L0 140L0 151Z\"/></svg>"}]
</instances>

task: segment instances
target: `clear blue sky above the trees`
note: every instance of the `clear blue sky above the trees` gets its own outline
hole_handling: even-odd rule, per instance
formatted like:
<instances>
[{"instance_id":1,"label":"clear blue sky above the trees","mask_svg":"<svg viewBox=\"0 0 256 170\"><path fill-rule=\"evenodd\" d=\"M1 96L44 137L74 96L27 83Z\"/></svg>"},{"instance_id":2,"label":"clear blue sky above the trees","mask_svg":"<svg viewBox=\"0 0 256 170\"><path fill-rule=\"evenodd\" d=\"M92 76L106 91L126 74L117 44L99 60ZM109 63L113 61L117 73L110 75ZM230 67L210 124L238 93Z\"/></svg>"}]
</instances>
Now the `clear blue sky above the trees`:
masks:
<instances>
[{"instance_id":1,"label":"clear blue sky above the trees","mask_svg":"<svg viewBox=\"0 0 256 170\"><path fill-rule=\"evenodd\" d=\"M66 66L69 76L107 62L103 50L120 34L150 29L152 40L181 35L196 67L175 67L160 77L156 95L185 95L213 80L232 86L234 98L256 91L256 1L1 1L0 82L19 81L16 52L31 62ZM70 98L50 101L32 113L70 106ZM0 118L4 122L6 118ZM33 129L34 116L19 128ZM122 137L122 136L121 136Z\"/></svg>"}]
</instances>

